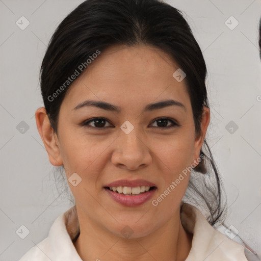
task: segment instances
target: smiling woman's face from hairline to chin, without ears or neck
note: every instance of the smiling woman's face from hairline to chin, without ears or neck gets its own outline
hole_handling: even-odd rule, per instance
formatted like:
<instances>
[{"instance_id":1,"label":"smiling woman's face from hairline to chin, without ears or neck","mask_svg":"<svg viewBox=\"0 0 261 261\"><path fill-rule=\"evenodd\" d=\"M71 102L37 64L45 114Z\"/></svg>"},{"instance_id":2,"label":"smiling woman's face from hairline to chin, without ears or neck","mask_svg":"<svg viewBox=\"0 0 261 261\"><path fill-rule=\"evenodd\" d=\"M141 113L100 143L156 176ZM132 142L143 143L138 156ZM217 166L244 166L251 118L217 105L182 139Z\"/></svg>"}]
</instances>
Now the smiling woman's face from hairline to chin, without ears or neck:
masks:
<instances>
[{"instance_id":1,"label":"smiling woman's face from hairline to chin, without ears or neck","mask_svg":"<svg viewBox=\"0 0 261 261\"><path fill-rule=\"evenodd\" d=\"M173 77L178 68L159 49L114 46L89 64L62 102L56 160L64 165L79 217L119 237L125 230L132 231L133 238L146 236L179 213L189 181L189 172L182 173L198 160L203 137L195 135L185 80ZM75 109L86 100L113 107ZM151 106L167 100L177 104ZM102 119L92 121L97 117ZM203 133L207 124L206 120ZM155 188L145 192L147 196L106 188L119 180L123 181L116 187ZM157 200L162 194L165 197Z\"/></svg>"}]
</instances>

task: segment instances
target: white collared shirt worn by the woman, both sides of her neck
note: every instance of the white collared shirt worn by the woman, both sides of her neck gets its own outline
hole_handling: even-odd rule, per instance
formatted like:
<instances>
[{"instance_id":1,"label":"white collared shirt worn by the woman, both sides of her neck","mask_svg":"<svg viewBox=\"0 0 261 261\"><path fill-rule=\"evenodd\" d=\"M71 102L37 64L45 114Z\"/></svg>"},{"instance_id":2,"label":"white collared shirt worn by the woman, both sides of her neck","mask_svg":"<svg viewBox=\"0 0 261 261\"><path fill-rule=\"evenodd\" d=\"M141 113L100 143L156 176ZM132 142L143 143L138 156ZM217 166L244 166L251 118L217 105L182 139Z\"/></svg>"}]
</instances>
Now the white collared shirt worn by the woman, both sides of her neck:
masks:
<instances>
[{"instance_id":1,"label":"white collared shirt worn by the woman, both sides of her neck","mask_svg":"<svg viewBox=\"0 0 261 261\"><path fill-rule=\"evenodd\" d=\"M243 245L213 228L196 207L185 203L180 219L185 230L193 233L192 247L185 261L259 260ZM55 220L48 237L32 247L19 261L83 261L72 242L79 232L74 205Z\"/></svg>"}]
</instances>

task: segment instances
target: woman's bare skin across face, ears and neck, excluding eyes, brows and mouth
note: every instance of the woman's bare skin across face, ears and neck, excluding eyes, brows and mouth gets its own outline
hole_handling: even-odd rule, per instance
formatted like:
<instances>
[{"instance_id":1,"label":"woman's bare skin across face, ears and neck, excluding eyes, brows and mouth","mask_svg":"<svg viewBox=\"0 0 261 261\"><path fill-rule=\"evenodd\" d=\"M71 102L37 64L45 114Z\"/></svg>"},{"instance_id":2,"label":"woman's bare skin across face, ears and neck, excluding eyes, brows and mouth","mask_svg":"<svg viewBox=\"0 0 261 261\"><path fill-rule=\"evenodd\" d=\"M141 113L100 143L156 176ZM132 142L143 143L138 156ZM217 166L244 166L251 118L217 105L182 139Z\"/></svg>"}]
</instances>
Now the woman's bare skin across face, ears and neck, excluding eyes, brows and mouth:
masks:
<instances>
[{"instance_id":1,"label":"woman's bare skin across face, ears and neck, excluding eyes, brows and mouth","mask_svg":"<svg viewBox=\"0 0 261 261\"><path fill-rule=\"evenodd\" d=\"M74 245L83 260L185 260L190 252L192 234L186 232L179 215L190 175L158 206L151 204L198 159L210 122L210 111L204 108L202 134L196 135L186 82L177 82L172 76L178 68L160 49L113 46L70 86L60 108L58 135L45 109L36 111L50 163L63 165L67 178L74 172L82 178L76 187L68 184L81 230ZM122 111L73 110L86 99L107 101ZM142 112L148 103L168 99L178 100L185 109L169 106ZM94 122L89 127L80 125L94 117L107 119L106 128L100 130ZM173 119L179 126L161 127L156 121L161 117ZM134 125L129 134L120 128L126 120ZM114 180L138 178L157 187L153 197L139 206L123 206L103 188ZM126 225L133 230L128 239L121 234Z\"/></svg>"}]
</instances>

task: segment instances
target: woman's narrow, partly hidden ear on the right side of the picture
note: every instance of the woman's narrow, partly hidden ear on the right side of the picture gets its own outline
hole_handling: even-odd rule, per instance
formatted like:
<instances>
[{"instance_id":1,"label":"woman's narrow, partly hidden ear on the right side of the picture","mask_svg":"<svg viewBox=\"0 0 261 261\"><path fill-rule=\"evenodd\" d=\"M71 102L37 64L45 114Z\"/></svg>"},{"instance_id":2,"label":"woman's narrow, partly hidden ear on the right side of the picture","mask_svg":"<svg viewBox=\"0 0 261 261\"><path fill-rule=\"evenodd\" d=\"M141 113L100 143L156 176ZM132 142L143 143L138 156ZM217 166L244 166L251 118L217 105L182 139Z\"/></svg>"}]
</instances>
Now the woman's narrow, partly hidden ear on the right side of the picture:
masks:
<instances>
[{"instance_id":1,"label":"woman's narrow, partly hidden ear on the right side of the picture","mask_svg":"<svg viewBox=\"0 0 261 261\"><path fill-rule=\"evenodd\" d=\"M195 145L194 145L194 153L193 160L196 161L199 157L200 150L204 143L207 126L210 123L210 109L205 107L203 108L203 114L201 119L201 134L195 136Z\"/></svg>"}]
</instances>

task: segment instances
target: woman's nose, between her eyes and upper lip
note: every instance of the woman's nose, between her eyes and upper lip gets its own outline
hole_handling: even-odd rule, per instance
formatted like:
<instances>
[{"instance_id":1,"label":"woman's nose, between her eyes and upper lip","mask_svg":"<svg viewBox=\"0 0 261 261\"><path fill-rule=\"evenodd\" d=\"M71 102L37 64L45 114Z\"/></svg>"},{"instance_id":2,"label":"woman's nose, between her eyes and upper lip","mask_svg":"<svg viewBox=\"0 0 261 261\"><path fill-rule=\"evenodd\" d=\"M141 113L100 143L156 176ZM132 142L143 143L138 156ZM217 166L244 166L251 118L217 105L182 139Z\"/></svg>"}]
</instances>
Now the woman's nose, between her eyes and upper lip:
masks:
<instances>
[{"instance_id":1,"label":"woman's nose, between her eyes and upper lip","mask_svg":"<svg viewBox=\"0 0 261 261\"><path fill-rule=\"evenodd\" d=\"M129 134L120 131L111 161L117 167L137 170L152 162L151 150L136 128Z\"/></svg>"}]
</instances>

